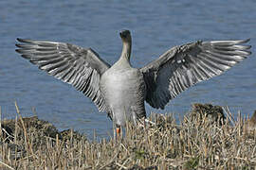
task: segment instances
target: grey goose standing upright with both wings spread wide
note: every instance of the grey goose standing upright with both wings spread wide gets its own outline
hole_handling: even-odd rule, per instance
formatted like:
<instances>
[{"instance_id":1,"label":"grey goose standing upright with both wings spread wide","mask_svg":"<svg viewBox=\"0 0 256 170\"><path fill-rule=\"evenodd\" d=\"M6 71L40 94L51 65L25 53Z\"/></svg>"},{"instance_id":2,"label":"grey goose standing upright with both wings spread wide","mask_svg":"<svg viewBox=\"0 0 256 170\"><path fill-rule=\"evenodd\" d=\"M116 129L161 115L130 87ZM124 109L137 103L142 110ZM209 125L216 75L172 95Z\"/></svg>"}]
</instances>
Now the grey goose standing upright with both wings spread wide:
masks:
<instances>
[{"instance_id":1,"label":"grey goose standing upright with both wings spread wide","mask_svg":"<svg viewBox=\"0 0 256 170\"><path fill-rule=\"evenodd\" d=\"M89 97L113 120L119 133L126 121L136 124L146 117L145 101L164 110L192 85L219 76L251 54L247 40L190 42L169 49L142 68L131 65L132 37L119 32L122 51L112 66L92 48L65 42L17 39L16 52L25 59L71 84Z\"/></svg>"}]
</instances>

